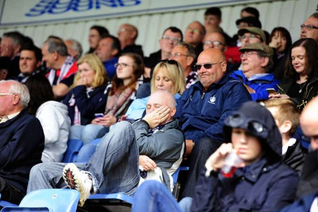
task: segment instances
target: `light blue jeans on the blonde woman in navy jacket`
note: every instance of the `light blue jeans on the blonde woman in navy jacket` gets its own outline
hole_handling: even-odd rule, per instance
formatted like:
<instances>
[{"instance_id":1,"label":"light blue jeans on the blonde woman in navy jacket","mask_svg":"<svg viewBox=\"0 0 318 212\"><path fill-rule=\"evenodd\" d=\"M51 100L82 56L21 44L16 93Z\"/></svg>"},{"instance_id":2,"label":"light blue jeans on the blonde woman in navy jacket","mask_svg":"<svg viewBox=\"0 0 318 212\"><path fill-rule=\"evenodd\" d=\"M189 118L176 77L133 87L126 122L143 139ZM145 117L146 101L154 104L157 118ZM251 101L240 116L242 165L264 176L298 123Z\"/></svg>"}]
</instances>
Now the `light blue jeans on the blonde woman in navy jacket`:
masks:
<instances>
[{"instance_id":1,"label":"light blue jeans on the blonde woman in navy jacket","mask_svg":"<svg viewBox=\"0 0 318 212\"><path fill-rule=\"evenodd\" d=\"M103 129L102 125L73 125L70 130L70 139L79 139L84 145L97 139L98 132Z\"/></svg>"}]
</instances>

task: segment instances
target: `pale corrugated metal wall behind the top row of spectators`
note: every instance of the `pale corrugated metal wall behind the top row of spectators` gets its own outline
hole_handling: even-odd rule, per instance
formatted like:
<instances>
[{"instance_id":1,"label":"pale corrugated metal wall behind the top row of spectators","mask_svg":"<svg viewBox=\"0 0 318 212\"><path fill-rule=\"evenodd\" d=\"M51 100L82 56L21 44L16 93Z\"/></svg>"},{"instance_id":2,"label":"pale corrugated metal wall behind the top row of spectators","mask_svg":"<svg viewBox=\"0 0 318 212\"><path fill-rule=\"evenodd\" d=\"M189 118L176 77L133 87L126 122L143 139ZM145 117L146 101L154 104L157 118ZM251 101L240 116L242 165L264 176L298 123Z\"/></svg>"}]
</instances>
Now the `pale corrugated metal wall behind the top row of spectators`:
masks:
<instances>
[{"instance_id":1,"label":"pale corrugated metal wall behind the top row of spectators","mask_svg":"<svg viewBox=\"0 0 318 212\"><path fill-rule=\"evenodd\" d=\"M238 29L235 21L239 19L240 10L246 6L253 6L259 10L264 30L270 33L274 27L283 26L290 31L293 41L296 41L299 38L300 25L315 12L317 0L270 0L252 4L220 6L222 9L221 26L229 35L236 34ZM81 42L84 51L87 51L90 26L103 25L111 34L116 35L119 25L130 23L138 28L139 36L136 43L143 45L144 53L147 56L159 50L159 39L165 28L176 26L184 32L191 21L203 22L204 11L205 8L71 23L6 27L0 29L0 34L18 30L31 37L39 47L49 35L56 35L63 39L73 38Z\"/></svg>"}]
</instances>

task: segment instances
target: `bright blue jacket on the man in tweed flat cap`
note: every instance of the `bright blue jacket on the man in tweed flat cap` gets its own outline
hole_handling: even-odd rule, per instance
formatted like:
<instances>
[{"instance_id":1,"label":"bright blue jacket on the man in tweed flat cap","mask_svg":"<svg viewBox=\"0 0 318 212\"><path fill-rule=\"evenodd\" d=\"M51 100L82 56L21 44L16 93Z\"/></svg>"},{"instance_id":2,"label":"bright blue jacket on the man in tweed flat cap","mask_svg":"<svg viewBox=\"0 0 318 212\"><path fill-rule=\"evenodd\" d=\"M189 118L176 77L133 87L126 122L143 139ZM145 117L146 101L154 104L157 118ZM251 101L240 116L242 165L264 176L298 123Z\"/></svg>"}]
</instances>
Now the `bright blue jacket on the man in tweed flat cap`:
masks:
<instances>
[{"instance_id":1,"label":"bright blue jacket on the man in tweed flat cap","mask_svg":"<svg viewBox=\"0 0 318 212\"><path fill-rule=\"evenodd\" d=\"M268 92L266 91L266 88L274 88L277 91L277 84L280 83L279 80L275 79L273 73L268 73L265 76L249 81L243 74L243 71L238 70L231 73L231 77L241 81L243 84L255 90L255 93L250 94L253 101L268 99Z\"/></svg>"}]
</instances>

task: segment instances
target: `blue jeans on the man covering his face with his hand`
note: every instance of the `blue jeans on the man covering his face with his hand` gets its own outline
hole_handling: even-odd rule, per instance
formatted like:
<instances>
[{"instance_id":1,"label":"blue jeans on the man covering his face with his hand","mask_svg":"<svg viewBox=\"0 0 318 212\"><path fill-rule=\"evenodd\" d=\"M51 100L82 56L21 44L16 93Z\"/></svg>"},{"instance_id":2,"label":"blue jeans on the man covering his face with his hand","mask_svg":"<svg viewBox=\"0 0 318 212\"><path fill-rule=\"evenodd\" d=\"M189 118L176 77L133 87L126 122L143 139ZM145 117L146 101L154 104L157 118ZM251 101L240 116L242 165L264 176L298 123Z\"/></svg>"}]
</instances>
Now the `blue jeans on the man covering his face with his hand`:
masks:
<instances>
[{"instance_id":1,"label":"blue jeans on the man covering his face with his hand","mask_svg":"<svg viewBox=\"0 0 318 212\"><path fill-rule=\"evenodd\" d=\"M95 176L100 193L124 192L133 195L139 183L139 151L135 131L129 122L118 123L106 134L86 164L79 169ZM30 171L27 192L65 188L62 172L66 163L40 163Z\"/></svg>"}]
</instances>

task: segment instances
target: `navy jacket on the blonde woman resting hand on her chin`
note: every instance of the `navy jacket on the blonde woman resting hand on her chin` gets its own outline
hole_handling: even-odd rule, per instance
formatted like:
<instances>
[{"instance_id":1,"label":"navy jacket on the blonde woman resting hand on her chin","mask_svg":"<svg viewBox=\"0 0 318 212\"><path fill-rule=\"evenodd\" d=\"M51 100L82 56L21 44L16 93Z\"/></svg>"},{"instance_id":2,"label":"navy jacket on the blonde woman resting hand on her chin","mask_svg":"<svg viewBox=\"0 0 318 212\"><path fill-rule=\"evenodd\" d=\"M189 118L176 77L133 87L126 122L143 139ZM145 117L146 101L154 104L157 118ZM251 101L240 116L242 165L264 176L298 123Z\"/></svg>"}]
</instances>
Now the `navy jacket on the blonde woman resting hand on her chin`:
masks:
<instances>
[{"instance_id":1,"label":"navy jacket on the blonde woman resting hand on her chin","mask_svg":"<svg viewBox=\"0 0 318 212\"><path fill-rule=\"evenodd\" d=\"M75 105L70 104L72 94L74 94L75 104L80 112L80 125L90 124L95 118L95 113L104 113L107 101L107 93L104 92L106 85L95 87L92 91L86 92L86 86L74 87L65 97L63 103L68 106L69 117L74 124Z\"/></svg>"}]
</instances>

